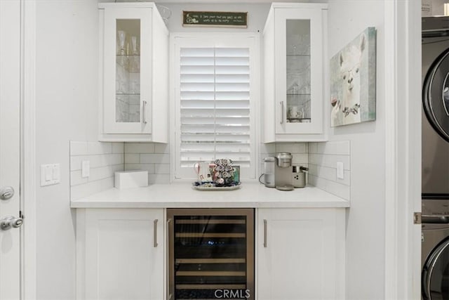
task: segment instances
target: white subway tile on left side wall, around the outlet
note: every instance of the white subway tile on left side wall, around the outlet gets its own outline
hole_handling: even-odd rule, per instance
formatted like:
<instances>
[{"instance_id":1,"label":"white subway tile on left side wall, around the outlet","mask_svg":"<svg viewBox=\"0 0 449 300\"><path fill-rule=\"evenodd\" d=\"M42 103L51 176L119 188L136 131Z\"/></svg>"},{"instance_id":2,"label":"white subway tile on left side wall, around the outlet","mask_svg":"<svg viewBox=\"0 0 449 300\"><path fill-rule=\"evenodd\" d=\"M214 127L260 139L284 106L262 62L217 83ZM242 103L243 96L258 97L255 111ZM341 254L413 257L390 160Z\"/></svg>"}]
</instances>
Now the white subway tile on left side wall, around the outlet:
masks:
<instances>
[{"instance_id":1,"label":"white subway tile on left side wall, around the outlet","mask_svg":"<svg viewBox=\"0 0 449 300\"><path fill-rule=\"evenodd\" d=\"M114 173L123 171L123 143L70 141L70 199L114 187ZM81 164L89 161L90 174L81 176Z\"/></svg>"}]
</instances>

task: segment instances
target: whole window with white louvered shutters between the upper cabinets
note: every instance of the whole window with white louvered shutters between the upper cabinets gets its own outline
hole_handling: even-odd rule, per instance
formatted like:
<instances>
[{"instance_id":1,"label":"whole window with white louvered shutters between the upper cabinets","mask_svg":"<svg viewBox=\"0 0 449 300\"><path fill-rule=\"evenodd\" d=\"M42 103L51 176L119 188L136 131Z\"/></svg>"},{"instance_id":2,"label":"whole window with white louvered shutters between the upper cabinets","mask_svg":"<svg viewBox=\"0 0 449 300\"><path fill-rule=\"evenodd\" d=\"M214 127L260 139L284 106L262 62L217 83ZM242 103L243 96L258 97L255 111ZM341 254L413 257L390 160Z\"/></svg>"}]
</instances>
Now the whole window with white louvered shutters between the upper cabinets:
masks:
<instances>
[{"instance_id":1,"label":"whole window with white louvered shutters between the upper cabinets","mask_svg":"<svg viewBox=\"0 0 449 300\"><path fill-rule=\"evenodd\" d=\"M175 178L194 178L195 162L216 158L255 178L257 42L254 34L174 38Z\"/></svg>"}]
</instances>

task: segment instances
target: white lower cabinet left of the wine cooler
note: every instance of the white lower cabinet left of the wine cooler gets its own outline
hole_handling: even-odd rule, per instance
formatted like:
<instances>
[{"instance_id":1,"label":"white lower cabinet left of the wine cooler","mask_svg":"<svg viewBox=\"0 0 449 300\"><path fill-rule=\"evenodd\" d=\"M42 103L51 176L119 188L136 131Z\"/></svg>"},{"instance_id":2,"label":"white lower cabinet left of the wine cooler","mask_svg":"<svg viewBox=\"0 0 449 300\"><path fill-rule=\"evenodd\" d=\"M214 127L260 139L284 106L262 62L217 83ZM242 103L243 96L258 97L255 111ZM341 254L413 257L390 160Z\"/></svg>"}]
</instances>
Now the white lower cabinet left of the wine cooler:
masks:
<instances>
[{"instance_id":1,"label":"white lower cabinet left of the wine cooler","mask_svg":"<svg viewBox=\"0 0 449 300\"><path fill-rule=\"evenodd\" d=\"M76 299L163 299L163 209L78 209L76 221Z\"/></svg>"}]
</instances>

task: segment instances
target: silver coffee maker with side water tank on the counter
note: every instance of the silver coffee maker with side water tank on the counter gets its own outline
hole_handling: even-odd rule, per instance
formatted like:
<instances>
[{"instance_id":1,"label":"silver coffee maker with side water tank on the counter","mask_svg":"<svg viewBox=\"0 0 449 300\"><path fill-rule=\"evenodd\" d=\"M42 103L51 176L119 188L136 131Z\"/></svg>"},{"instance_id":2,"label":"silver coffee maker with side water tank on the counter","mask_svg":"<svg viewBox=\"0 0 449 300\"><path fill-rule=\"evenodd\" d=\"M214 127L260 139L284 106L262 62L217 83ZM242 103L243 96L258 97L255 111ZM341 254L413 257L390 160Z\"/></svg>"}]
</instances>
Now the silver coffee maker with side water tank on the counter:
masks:
<instances>
[{"instance_id":1,"label":"silver coffee maker with side water tank on the counter","mask_svg":"<svg viewBox=\"0 0 449 300\"><path fill-rule=\"evenodd\" d=\"M276 153L275 157L264 159L264 185L278 190L293 190L292 184L292 154Z\"/></svg>"}]
</instances>

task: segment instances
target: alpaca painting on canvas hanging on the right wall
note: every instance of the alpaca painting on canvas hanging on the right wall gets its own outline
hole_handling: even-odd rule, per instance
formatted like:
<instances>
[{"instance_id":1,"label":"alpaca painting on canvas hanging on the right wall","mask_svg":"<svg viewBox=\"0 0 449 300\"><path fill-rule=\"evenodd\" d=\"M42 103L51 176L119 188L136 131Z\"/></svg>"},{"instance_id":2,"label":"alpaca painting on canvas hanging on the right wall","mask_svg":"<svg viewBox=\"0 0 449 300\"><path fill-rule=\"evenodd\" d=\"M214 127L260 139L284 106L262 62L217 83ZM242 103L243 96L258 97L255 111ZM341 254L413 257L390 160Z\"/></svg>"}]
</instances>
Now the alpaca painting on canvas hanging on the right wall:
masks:
<instances>
[{"instance_id":1,"label":"alpaca painting on canvas hanging on the right wall","mask_svg":"<svg viewBox=\"0 0 449 300\"><path fill-rule=\"evenodd\" d=\"M375 120L375 39L368 27L330 60L330 125Z\"/></svg>"}]
</instances>

